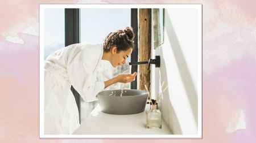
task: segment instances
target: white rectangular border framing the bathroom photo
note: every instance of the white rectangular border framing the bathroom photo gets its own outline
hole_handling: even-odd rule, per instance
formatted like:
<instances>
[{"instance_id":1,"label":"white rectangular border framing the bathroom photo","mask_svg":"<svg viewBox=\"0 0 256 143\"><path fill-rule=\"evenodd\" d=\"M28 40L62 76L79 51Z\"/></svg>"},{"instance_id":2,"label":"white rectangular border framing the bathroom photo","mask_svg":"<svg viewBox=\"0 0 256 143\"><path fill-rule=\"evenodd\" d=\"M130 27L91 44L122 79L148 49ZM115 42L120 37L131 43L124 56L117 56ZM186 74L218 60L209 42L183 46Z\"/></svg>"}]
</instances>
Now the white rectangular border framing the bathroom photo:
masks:
<instances>
[{"instance_id":1,"label":"white rectangular border framing the bathroom photo","mask_svg":"<svg viewBox=\"0 0 256 143\"><path fill-rule=\"evenodd\" d=\"M44 135L44 9L45 8L197 8L199 25L198 25L198 36L199 36L199 49L198 55L198 134L197 135ZM202 135L202 105L203 105L203 80L202 80L202 70L203 70L203 5L201 4L40 4L39 5L39 137L40 138L203 138ZM201 65L201 66L200 66Z\"/></svg>"}]
</instances>

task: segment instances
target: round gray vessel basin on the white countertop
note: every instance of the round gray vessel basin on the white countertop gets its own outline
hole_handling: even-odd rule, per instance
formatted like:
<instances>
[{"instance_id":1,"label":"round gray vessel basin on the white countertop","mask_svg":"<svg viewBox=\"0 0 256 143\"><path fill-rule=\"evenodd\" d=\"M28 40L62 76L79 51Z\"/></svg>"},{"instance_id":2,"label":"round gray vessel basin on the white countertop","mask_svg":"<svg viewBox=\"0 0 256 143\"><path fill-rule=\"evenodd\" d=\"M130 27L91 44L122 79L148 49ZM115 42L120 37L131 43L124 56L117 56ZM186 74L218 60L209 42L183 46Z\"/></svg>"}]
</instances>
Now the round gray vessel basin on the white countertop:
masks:
<instances>
[{"instance_id":1,"label":"round gray vessel basin on the white countertop","mask_svg":"<svg viewBox=\"0 0 256 143\"><path fill-rule=\"evenodd\" d=\"M145 90L121 89L103 90L97 95L101 111L108 114L137 114L143 112L147 102Z\"/></svg>"}]
</instances>

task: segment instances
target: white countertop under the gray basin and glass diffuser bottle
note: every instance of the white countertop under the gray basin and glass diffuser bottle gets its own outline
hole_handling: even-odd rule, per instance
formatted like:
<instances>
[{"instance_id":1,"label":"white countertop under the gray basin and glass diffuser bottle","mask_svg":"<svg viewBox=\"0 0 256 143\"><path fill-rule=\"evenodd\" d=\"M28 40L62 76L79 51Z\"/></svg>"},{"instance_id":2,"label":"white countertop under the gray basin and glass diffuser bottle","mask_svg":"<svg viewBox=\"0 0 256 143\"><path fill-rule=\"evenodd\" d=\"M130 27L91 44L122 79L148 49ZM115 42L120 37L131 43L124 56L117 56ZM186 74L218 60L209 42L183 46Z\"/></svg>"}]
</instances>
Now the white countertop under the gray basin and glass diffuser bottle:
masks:
<instances>
[{"instance_id":1,"label":"white countertop under the gray basin and glass diffuser bottle","mask_svg":"<svg viewBox=\"0 0 256 143\"><path fill-rule=\"evenodd\" d=\"M148 105L146 106L146 109ZM73 135L171 135L162 120L162 129L146 128L146 113L113 115L101 111L100 105L90 112Z\"/></svg>"}]
</instances>

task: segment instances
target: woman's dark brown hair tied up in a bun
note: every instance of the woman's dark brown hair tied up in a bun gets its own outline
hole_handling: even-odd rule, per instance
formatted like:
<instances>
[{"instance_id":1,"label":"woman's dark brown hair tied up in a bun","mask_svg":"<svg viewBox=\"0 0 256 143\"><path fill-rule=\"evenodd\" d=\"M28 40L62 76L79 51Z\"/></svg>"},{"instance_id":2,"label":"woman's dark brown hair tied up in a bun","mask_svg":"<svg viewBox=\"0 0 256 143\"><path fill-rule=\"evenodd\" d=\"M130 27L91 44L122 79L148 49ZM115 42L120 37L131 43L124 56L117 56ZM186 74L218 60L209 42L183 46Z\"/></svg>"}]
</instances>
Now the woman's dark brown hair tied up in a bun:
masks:
<instances>
[{"instance_id":1,"label":"woman's dark brown hair tied up in a bun","mask_svg":"<svg viewBox=\"0 0 256 143\"><path fill-rule=\"evenodd\" d=\"M117 53L119 51L126 51L129 48L134 47L134 33L133 28L126 27L123 30L118 30L116 32L110 32L106 36L103 44L104 52L109 52L113 46L117 47Z\"/></svg>"}]
</instances>

